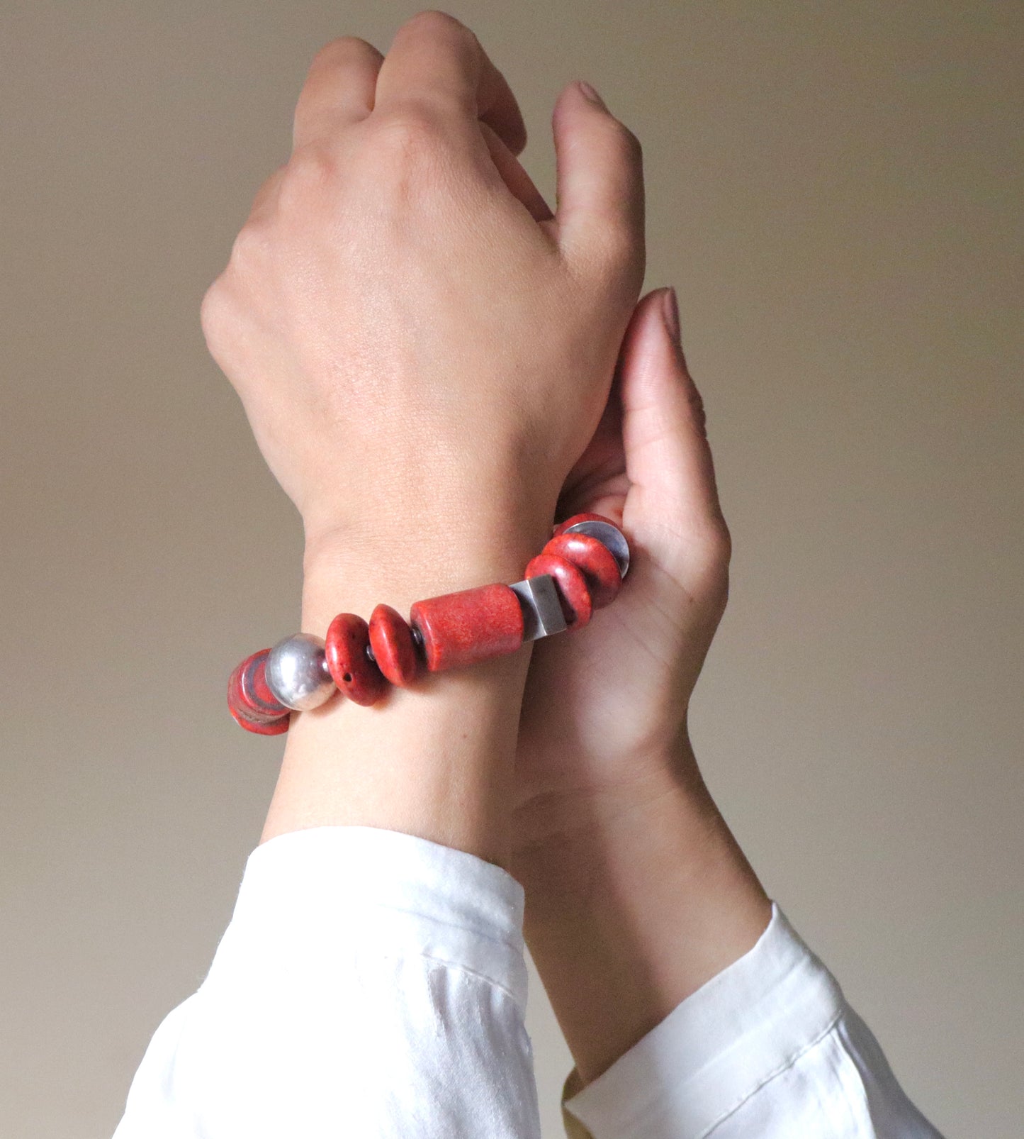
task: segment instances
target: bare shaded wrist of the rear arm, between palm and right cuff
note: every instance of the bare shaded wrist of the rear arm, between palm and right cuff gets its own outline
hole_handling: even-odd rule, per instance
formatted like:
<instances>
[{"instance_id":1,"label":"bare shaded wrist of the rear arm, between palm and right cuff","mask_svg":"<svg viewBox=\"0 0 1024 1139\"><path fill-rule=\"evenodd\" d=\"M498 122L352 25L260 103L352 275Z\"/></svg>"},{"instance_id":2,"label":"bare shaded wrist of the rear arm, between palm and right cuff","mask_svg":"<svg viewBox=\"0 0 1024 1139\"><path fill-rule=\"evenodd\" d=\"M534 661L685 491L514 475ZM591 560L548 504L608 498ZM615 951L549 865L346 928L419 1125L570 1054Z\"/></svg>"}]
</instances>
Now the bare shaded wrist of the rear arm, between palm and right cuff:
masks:
<instances>
[{"instance_id":1,"label":"bare shaded wrist of the rear arm, between palm and right cuff","mask_svg":"<svg viewBox=\"0 0 1024 1139\"><path fill-rule=\"evenodd\" d=\"M520 851L513 872L585 1083L750 950L771 912L685 739L613 810L595 796L575 829Z\"/></svg>"}]
</instances>

